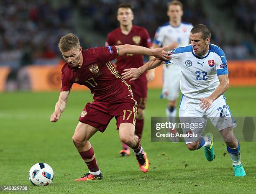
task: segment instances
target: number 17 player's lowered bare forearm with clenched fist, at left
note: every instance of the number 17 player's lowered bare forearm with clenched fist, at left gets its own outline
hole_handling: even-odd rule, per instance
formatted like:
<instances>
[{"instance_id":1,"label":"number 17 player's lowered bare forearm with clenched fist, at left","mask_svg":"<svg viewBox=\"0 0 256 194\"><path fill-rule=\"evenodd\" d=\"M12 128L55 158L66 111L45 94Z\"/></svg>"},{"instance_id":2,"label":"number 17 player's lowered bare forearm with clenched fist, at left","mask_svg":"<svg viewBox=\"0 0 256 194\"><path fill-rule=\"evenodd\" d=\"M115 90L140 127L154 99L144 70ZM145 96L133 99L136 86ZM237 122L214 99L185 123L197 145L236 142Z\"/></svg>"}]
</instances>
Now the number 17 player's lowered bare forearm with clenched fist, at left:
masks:
<instances>
[{"instance_id":1,"label":"number 17 player's lowered bare forearm with clenched fist, at left","mask_svg":"<svg viewBox=\"0 0 256 194\"><path fill-rule=\"evenodd\" d=\"M55 105L54 113L52 113L50 121L51 122L57 122L59 120L59 117L61 116L61 113L65 110L67 100L69 98L69 92L61 92L59 94L59 100Z\"/></svg>"}]
</instances>

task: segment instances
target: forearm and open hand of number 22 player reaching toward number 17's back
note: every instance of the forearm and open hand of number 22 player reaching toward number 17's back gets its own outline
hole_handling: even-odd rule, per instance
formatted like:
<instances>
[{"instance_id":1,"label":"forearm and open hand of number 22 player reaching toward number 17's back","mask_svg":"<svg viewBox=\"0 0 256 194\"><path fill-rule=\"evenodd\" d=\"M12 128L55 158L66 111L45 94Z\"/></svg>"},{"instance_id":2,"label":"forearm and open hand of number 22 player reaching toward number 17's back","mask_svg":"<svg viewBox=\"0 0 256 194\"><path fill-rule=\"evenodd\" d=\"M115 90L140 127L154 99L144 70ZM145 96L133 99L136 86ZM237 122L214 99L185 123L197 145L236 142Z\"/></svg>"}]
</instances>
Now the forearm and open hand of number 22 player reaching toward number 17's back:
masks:
<instances>
[{"instance_id":1,"label":"forearm and open hand of number 22 player reaching toward number 17's back","mask_svg":"<svg viewBox=\"0 0 256 194\"><path fill-rule=\"evenodd\" d=\"M157 59L157 58L153 58L151 60L149 60L146 64L144 64L143 66L139 67L138 69L136 68L131 68L131 69L124 69L123 74L122 74L122 78L123 79L130 79L130 81L137 79L141 74L143 74L143 72L149 70L149 69L154 69L157 66L162 64L162 60L161 59Z\"/></svg>"}]
</instances>

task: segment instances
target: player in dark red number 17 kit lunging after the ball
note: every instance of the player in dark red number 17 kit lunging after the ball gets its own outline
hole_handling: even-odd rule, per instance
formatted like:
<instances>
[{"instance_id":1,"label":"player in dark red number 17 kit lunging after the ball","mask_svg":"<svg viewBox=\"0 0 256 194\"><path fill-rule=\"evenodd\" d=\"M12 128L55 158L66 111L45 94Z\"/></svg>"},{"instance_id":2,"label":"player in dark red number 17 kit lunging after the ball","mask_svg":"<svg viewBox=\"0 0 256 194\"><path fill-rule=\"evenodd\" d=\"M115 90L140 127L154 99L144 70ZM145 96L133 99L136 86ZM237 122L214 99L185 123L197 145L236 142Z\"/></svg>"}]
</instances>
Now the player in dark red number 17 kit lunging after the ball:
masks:
<instances>
[{"instance_id":1,"label":"player in dark red number 17 kit lunging after the ball","mask_svg":"<svg viewBox=\"0 0 256 194\"><path fill-rule=\"evenodd\" d=\"M51 122L59 120L66 107L73 83L87 86L93 94L93 102L84 107L72 140L79 154L90 169L89 173L76 181L102 179L102 173L89 142L98 130L104 132L110 120L115 117L120 140L130 146L138 160L141 171L146 172L149 162L138 136L134 135L137 102L129 86L110 62L124 54L145 54L169 60L165 48L149 48L122 45L89 48L82 51L79 39L72 33L61 37L59 49L67 62L61 69L61 93L51 115Z\"/></svg>"}]
</instances>

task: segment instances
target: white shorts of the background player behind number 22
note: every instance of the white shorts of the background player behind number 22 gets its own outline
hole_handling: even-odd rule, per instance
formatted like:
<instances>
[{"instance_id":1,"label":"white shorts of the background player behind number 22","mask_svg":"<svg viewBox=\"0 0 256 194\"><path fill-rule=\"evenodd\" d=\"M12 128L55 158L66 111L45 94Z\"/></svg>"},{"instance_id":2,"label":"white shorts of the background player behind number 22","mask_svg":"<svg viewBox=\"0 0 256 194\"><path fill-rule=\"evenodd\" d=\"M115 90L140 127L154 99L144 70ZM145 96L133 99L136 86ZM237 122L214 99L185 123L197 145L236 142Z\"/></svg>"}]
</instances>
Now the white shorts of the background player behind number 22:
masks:
<instances>
[{"instance_id":1,"label":"white shorts of the background player behind number 22","mask_svg":"<svg viewBox=\"0 0 256 194\"><path fill-rule=\"evenodd\" d=\"M180 91L180 68L175 64L164 65L163 71L163 90L161 97L167 98L167 100L176 100L179 97ZM166 95L166 92L168 95Z\"/></svg>"}]
</instances>

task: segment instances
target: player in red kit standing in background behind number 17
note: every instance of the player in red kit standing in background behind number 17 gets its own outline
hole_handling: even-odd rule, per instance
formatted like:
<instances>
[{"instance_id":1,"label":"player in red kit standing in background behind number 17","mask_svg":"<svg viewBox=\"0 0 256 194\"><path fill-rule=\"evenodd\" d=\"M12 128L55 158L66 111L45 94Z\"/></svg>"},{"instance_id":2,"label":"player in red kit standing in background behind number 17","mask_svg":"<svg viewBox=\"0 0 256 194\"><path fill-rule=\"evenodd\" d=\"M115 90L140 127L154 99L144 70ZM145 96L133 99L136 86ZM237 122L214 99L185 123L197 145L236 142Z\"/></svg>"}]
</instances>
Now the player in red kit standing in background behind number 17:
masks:
<instances>
[{"instance_id":1,"label":"player in red kit standing in background behind number 17","mask_svg":"<svg viewBox=\"0 0 256 194\"><path fill-rule=\"evenodd\" d=\"M152 46L151 38L145 28L132 24L133 6L128 3L122 3L118 6L117 19L120 27L108 33L105 46L133 44L150 48ZM139 68L143 66L142 55L126 54L119 56L115 63L116 69L122 74L124 69ZM133 96L138 103L138 114L136 116L135 134L141 139L144 125L144 109L147 100L147 81L152 81L155 77L154 69L143 73L141 77L134 81L127 81L131 85ZM129 156L130 149L128 145L122 143L120 156Z\"/></svg>"}]
</instances>

